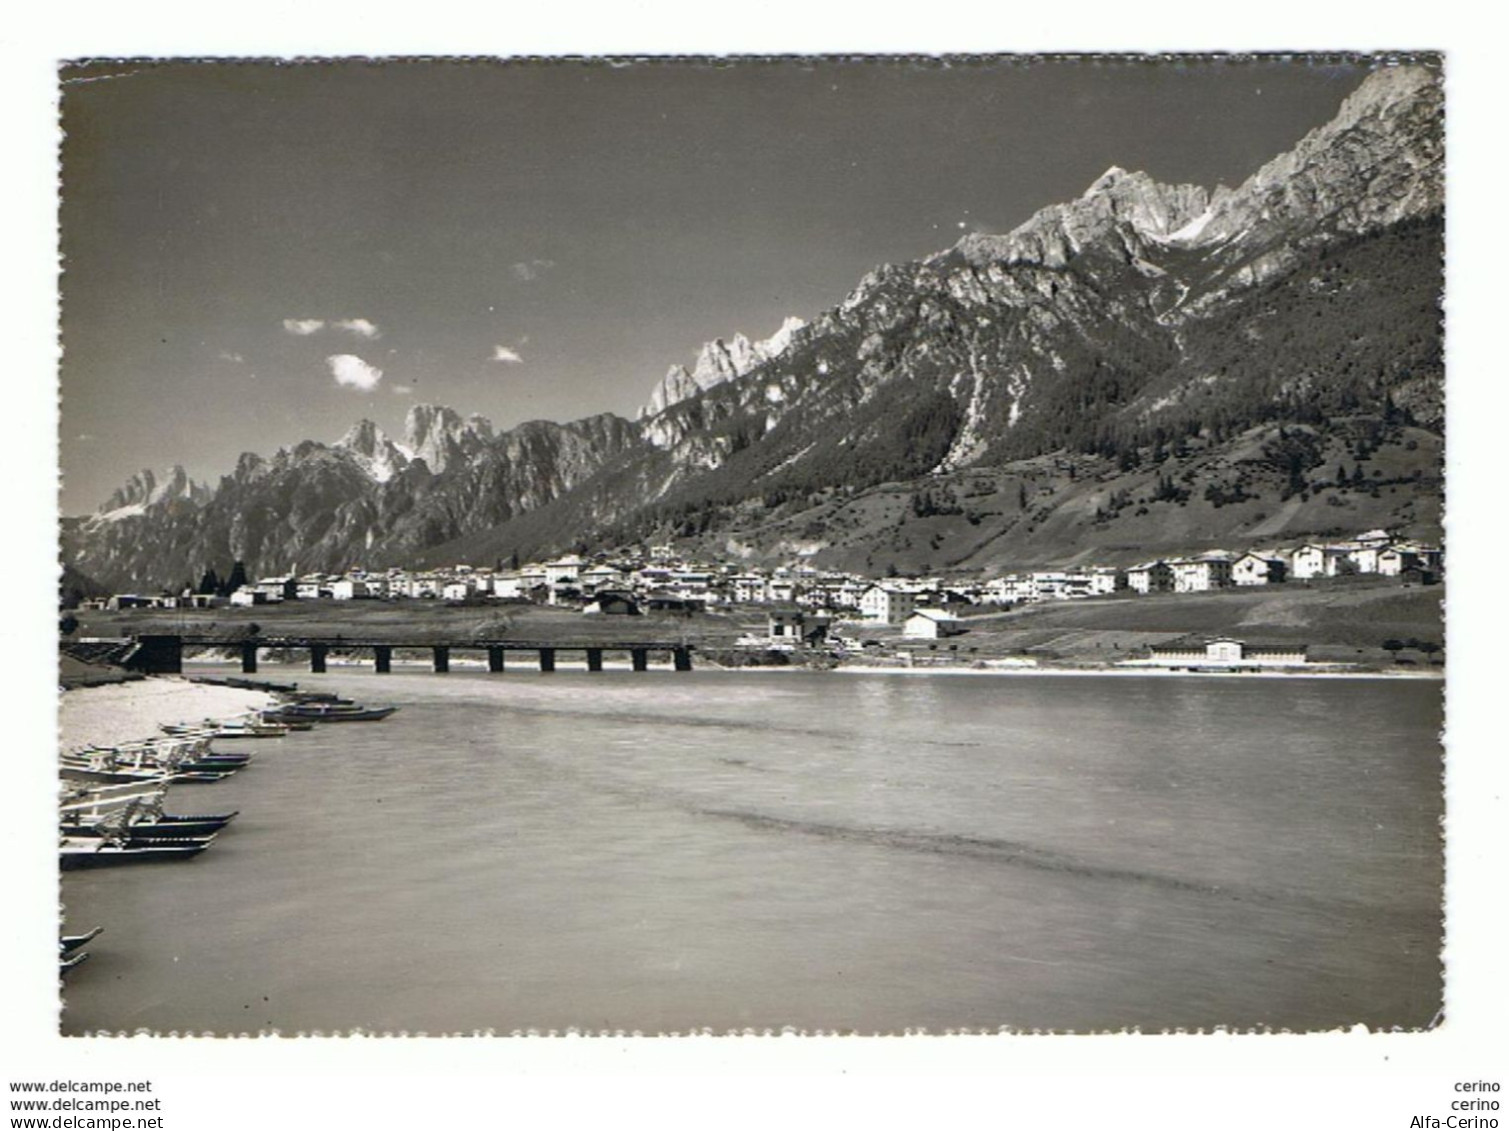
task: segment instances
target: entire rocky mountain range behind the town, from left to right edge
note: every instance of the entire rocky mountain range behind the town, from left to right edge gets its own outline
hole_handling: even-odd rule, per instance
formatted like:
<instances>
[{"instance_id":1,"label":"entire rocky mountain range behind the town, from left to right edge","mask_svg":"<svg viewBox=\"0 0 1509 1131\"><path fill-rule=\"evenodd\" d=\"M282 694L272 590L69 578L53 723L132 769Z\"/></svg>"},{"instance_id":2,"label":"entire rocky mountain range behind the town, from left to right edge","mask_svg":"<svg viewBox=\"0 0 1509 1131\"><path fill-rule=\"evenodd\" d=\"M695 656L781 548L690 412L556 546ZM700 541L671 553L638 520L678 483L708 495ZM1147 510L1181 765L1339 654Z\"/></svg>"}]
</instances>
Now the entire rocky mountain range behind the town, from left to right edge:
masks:
<instances>
[{"instance_id":1,"label":"entire rocky mountain range behind the town, from left to right edge","mask_svg":"<svg viewBox=\"0 0 1509 1131\"><path fill-rule=\"evenodd\" d=\"M71 561L172 584L226 556L261 572L490 558L688 516L758 528L815 490L1056 449L1124 457L1384 401L1438 428L1440 116L1435 72L1387 68L1237 188L1114 167L1007 235L877 268L768 342L711 342L637 422L493 436L423 406L403 443L364 422L333 446L243 457L171 519L91 520Z\"/></svg>"}]
</instances>

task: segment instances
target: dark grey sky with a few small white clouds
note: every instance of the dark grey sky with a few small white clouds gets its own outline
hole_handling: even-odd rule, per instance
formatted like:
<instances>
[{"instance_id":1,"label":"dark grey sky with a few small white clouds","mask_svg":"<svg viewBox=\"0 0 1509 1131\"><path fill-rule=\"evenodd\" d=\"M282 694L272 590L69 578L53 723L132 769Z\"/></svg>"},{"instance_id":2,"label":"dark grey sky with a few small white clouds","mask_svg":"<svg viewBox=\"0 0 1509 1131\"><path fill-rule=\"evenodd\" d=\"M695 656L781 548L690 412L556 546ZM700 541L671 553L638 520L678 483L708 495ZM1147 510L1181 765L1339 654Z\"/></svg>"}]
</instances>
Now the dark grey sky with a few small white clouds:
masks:
<instances>
[{"instance_id":1,"label":"dark grey sky with a few small white clouds","mask_svg":"<svg viewBox=\"0 0 1509 1131\"><path fill-rule=\"evenodd\" d=\"M1363 69L100 62L60 71L62 511L140 467L632 416L702 342L1010 231L1112 164L1237 184Z\"/></svg>"}]
</instances>

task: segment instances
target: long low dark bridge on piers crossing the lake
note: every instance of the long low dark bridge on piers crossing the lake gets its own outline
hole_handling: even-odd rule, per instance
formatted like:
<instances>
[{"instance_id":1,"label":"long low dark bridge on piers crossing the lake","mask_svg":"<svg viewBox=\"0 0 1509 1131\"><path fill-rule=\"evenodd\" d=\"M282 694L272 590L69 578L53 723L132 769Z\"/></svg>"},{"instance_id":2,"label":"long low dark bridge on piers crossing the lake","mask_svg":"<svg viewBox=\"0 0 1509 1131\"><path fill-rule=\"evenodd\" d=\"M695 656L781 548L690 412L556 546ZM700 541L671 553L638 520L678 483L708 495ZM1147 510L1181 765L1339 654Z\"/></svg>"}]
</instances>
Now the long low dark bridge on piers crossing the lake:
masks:
<instances>
[{"instance_id":1,"label":"long low dark bridge on piers crossing the lake","mask_svg":"<svg viewBox=\"0 0 1509 1131\"><path fill-rule=\"evenodd\" d=\"M676 641L519 641L519 639L466 639L447 642L406 642L392 639L367 639L358 636L181 636L142 635L133 636L127 667L136 671L157 674L181 673L184 647L231 648L241 653L241 671L257 671L257 654L263 648L296 650L309 653L309 671L324 671L332 650L368 648L377 671L392 671L395 648L429 651L435 671L451 670L451 653L472 651L487 654L487 671L506 670L506 659L513 653L534 653L540 671L555 671L557 654L581 651L587 656L587 671L602 671L605 651L626 651L634 671L647 671L652 651L668 651L676 671L691 671L693 645Z\"/></svg>"}]
</instances>

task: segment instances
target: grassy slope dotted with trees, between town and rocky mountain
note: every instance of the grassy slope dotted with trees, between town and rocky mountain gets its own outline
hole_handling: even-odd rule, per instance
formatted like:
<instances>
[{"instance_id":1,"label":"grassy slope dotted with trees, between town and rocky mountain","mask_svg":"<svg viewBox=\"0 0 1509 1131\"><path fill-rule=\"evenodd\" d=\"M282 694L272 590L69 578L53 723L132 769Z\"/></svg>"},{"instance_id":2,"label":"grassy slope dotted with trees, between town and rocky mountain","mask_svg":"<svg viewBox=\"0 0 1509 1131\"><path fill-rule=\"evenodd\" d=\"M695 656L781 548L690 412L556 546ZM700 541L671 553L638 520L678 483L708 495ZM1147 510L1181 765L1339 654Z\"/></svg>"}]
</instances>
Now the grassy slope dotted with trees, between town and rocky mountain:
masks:
<instances>
[{"instance_id":1,"label":"grassy slope dotted with trees, between town and rocky mountain","mask_svg":"<svg viewBox=\"0 0 1509 1131\"><path fill-rule=\"evenodd\" d=\"M830 489L730 508L691 553L883 576L1103 562L1295 546L1373 528L1438 541L1441 437L1378 418L1194 437L1135 467L1050 455L866 492Z\"/></svg>"}]
</instances>

